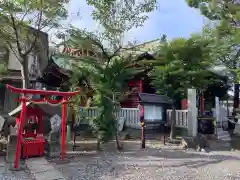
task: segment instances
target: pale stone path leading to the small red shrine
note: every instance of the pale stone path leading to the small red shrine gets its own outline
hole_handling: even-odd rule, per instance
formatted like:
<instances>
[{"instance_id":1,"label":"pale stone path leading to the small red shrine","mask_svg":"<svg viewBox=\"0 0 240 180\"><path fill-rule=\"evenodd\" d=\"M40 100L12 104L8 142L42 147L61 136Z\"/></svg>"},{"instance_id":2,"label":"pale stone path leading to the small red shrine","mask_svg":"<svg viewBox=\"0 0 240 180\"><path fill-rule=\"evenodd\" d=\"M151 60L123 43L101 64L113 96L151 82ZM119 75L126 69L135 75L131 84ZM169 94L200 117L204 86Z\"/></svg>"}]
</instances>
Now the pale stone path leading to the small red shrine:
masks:
<instances>
[{"instance_id":1,"label":"pale stone path leading to the small red shrine","mask_svg":"<svg viewBox=\"0 0 240 180\"><path fill-rule=\"evenodd\" d=\"M26 165L36 180L65 180L45 158L31 158L26 160Z\"/></svg>"}]
</instances>

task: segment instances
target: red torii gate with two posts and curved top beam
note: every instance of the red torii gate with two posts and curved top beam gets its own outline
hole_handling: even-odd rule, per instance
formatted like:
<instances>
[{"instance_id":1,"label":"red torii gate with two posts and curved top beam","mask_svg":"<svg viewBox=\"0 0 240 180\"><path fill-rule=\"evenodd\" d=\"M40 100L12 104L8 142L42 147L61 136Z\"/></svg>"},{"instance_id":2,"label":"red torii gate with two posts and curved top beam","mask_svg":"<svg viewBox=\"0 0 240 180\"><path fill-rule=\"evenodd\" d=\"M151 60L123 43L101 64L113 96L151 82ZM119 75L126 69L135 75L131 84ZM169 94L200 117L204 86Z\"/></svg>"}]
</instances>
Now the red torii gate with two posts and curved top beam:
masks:
<instances>
[{"instance_id":1,"label":"red torii gate with two posts and curved top beam","mask_svg":"<svg viewBox=\"0 0 240 180\"><path fill-rule=\"evenodd\" d=\"M10 85L6 85L6 87L14 93L17 94L23 94L23 96L19 99L22 104L21 114L20 114L20 126L17 133L17 144L16 144L16 152L15 152L15 159L14 159L14 168L19 167L19 160L21 156L21 144L22 144L22 132L24 127L24 122L26 120L26 103L32 102L32 103L49 103L49 104L62 104L62 137L61 137L61 159L64 159L65 155L65 138L66 138L66 115L67 115L67 104L69 103L69 99L72 96L77 95L80 91L74 91L74 92L59 92L59 91L45 91L45 90L36 90L36 89L21 89L16 88ZM32 100L27 97L27 95L43 95L44 98L40 100ZM47 99L47 96L62 96L63 98L61 100L49 100Z\"/></svg>"}]
</instances>

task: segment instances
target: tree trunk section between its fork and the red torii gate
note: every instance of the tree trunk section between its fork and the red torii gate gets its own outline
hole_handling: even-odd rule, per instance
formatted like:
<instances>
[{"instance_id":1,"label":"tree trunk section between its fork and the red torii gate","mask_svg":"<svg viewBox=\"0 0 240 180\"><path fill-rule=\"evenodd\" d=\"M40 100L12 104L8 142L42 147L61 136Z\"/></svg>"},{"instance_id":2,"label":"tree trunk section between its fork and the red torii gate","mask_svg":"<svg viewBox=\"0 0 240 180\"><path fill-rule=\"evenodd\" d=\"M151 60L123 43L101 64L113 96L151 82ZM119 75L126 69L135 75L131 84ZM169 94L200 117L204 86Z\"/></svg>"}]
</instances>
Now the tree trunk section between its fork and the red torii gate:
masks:
<instances>
[{"instance_id":1,"label":"tree trunk section between its fork and the red torii gate","mask_svg":"<svg viewBox=\"0 0 240 180\"><path fill-rule=\"evenodd\" d=\"M21 64L21 75L22 75L22 88L27 89L30 87L29 70L28 70L28 57L22 57L23 62Z\"/></svg>"}]
</instances>

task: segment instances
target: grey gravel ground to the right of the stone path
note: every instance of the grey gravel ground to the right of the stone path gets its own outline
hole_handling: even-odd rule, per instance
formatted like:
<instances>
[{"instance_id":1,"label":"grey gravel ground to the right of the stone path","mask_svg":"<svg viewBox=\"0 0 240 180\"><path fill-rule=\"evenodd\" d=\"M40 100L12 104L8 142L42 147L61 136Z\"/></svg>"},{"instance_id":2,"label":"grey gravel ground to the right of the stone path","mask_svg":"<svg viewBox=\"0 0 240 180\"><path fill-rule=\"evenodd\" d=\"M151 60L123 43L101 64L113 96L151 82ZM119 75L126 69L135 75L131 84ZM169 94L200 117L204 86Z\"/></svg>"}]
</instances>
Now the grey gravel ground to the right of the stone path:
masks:
<instances>
[{"instance_id":1,"label":"grey gravel ground to the right of the stone path","mask_svg":"<svg viewBox=\"0 0 240 180\"><path fill-rule=\"evenodd\" d=\"M68 162L51 163L69 180L240 180L240 153L235 151L196 153L154 144L146 150L139 144L129 147L124 152L82 152Z\"/></svg>"}]
</instances>

